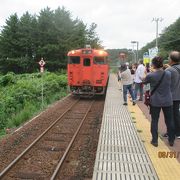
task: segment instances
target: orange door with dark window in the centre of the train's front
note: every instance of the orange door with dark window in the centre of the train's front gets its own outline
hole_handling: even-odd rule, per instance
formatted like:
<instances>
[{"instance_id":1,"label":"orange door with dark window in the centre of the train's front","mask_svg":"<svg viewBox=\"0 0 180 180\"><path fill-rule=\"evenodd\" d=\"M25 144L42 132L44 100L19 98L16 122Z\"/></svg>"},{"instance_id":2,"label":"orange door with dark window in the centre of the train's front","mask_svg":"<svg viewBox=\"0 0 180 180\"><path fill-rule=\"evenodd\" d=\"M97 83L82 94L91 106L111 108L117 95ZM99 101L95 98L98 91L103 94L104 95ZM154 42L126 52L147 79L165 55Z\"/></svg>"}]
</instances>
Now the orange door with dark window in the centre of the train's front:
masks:
<instances>
[{"instance_id":1,"label":"orange door with dark window in the centre of the train's front","mask_svg":"<svg viewBox=\"0 0 180 180\"><path fill-rule=\"evenodd\" d=\"M92 84L92 61L90 57L83 57L82 80L84 85Z\"/></svg>"}]
</instances>

